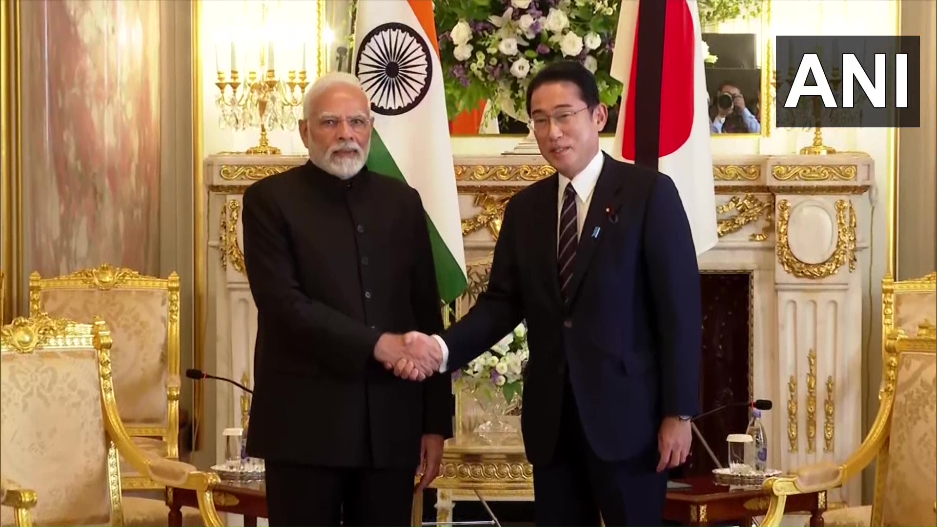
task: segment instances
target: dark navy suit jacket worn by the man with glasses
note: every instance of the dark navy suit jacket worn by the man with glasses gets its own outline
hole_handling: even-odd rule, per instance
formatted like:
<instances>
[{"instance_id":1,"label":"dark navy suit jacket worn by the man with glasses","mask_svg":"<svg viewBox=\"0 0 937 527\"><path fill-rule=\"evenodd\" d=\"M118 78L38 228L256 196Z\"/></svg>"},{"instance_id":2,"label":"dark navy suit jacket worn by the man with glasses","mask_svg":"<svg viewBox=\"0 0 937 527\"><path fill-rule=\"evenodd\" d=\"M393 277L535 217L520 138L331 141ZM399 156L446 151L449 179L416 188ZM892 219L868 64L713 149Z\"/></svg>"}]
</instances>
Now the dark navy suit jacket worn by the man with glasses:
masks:
<instances>
[{"instance_id":1,"label":"dark navy suit jacket worn by the man with glasses","mask_svg":"<svg viewBox=\"0 0 937 527\"><path fill-rule=\"evenodd\" d=\"M487 290L444 337L448 368L526 320L528 459L553 457L567 375L592 449L631 459L656 445L663 416L698 413L702 315L690 224L668 176L606 155L564 305L557 216L558 175L508 204Z\"/></svg>"}]
</instances>

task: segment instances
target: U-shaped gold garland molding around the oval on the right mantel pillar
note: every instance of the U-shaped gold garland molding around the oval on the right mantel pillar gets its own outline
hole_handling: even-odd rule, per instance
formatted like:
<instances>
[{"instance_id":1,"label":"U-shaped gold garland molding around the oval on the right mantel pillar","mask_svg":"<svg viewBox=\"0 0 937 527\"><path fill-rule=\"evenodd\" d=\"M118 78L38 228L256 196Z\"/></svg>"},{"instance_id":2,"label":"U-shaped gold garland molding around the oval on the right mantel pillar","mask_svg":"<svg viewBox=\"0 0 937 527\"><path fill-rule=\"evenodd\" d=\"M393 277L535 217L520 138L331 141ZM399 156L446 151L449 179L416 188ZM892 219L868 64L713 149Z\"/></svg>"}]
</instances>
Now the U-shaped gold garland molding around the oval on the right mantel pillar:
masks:
<instances>
[{"instance_id":1,"label":"U-shaped gold garland molding around the oval on the right mantel pillar","mask_svg":"<svg viewBox=\"0 0 937 527\"><path fill-rule=\"evenodd\" d=\"M787 228L791 219L791 203L778 202L778 260L789 274L801 279L825 279L836 274L843 264L855 271L855 209L849 200L836 202L836 248L824 262L807 264L797 260L788 243Z\"/></svg>"}]
</instances>

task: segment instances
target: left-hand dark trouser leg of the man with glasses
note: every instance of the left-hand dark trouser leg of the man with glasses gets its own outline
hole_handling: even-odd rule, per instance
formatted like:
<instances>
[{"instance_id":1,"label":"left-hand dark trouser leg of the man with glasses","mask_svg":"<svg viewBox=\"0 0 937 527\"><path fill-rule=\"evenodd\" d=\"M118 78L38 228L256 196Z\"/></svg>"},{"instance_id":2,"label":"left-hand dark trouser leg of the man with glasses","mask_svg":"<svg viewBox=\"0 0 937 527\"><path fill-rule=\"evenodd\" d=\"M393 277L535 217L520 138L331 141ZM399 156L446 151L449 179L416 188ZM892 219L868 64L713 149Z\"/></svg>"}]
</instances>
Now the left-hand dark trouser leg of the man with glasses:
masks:
<instances>
[{"instance_id":1,"label":"left-hand dark trouser leg of the man with glasses","mask_svg":"<svg viewBox=\"0 0 937 527\"><path fill-rule=\"evenodd\" d=\"M599 507L586 470L588 444L566 384L557 449L550 463L533 468L537 527L599 527Z\"/></svg>"}]
</instances>

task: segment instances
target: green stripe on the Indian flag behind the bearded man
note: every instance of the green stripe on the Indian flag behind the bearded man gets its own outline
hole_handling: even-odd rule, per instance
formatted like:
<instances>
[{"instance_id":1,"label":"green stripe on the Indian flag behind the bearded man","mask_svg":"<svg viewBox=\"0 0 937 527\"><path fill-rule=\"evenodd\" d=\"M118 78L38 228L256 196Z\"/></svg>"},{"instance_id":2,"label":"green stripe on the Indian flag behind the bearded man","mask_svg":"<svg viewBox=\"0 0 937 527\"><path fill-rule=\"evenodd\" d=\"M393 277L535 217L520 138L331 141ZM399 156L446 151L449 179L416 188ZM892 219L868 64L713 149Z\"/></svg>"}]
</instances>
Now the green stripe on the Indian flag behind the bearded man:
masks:
<instances>
[{"instance_id":1,"label":"green stripe on the Indian flag behind the bearded man","mask_svg":"<svg viewBox=\"0 0 937 527\"><path fill-rule=\"evenodd\" d=\"M387 150L384 142L380 140L378 130L371 131L371 151L367 156L367 168L376 173L382 173L408 183L407 178L397 168L394 156ZM457 206L457 203L454 203L454 205ZM446 246L446 242L439 235L433 220L428 216L426 217L426 225L429 227L429 240L433 246L433 260L436 264L436 283L439 285L439 296L441 296L443 303L448 304L465 291L466 277L462 274L462 269L459 268L459 264Z\"/></svg>"}]
</instances>

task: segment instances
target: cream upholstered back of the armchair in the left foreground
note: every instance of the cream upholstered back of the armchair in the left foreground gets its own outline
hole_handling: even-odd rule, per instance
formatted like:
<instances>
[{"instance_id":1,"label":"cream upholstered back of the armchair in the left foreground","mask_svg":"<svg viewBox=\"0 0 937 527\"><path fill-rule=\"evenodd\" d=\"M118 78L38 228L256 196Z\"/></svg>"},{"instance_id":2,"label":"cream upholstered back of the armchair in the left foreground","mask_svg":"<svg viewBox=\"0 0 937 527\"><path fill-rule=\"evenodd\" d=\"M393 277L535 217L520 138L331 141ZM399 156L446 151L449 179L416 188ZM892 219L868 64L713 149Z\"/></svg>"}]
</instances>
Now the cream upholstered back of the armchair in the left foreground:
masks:
<instances>
[{"instance_id":1,"label":"cream upholstered back of the armchair in the left foreground","mask_svg":"<svg viewBox=\"0 0 937 527\"><path fill-rule=\"evenodd\" d=\"M0 329L0 471L34 489L37 525L107 525L121 505L93 326L45 315ZM0 507L0 524L13 511Z\"/></svg>"}]
</instances>

